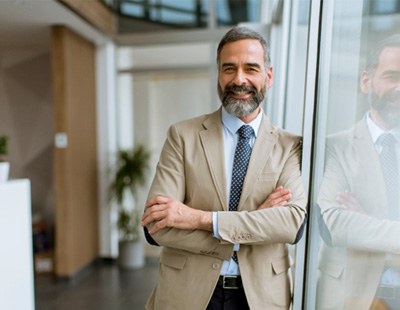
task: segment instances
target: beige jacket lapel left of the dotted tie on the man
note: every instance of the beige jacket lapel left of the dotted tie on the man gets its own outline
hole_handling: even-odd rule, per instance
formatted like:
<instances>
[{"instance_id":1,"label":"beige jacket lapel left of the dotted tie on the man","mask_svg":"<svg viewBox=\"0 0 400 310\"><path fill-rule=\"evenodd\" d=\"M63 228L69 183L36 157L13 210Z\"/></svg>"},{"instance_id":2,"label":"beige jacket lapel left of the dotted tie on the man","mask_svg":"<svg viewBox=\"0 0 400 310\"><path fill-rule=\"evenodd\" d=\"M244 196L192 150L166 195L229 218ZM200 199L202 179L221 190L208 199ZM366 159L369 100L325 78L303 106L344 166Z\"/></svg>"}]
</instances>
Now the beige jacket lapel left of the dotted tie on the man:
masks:
<instances>
[{"instance_id":1,"label":"beige jacket lapel left of the dotted tie on the man","mask_svg":"<svg viewBox=\"0 0 400 310\"><path fill-rule=\"evenodd\" d=\"M224 141L222 137L221 110L209 115L203 122L200 140L207 160L212 182L224 210L228 210L226 197Z\"/></svg>"}]
</instances>

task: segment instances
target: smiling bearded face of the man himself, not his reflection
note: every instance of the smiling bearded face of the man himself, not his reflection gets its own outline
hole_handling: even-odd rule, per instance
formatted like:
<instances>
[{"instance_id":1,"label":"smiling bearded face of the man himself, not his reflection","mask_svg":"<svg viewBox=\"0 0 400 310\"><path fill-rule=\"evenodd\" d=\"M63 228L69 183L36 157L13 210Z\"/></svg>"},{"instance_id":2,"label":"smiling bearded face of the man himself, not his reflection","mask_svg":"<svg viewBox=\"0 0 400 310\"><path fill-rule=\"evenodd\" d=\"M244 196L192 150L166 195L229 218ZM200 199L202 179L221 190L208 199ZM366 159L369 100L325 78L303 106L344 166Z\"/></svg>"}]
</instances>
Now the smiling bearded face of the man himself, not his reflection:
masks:
<instances>
[{"instance_id":1,"label":"smiling bearded face of the man himself, not his reflection","mask_svg":"<svg viewBox=\"0 0 400 310\"><path fill-rule=\"evenodd\" d=\"M272 68L268 71L265 68L264 49L260 42L245 39L222 48L218 95L230 114L241 118L254 112L271 85Z\"/></svg>"}]
</instances>

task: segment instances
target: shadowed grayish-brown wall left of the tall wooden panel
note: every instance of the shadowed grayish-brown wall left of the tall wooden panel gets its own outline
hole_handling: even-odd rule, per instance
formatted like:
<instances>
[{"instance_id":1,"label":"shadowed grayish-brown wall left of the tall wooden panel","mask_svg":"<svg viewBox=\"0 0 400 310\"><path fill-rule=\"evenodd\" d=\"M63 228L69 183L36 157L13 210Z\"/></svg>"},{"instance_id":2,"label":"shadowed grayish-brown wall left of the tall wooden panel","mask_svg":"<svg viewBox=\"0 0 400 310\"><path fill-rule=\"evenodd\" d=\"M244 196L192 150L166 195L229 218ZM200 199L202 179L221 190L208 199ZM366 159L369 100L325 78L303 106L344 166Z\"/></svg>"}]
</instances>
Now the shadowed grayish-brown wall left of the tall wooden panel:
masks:
<instances>
[{"instance_id":1,"label":"shadowed grayish-brown wall left of the tall wooden panel","mask_svg":"<svg viewBox=\"0 0 400 310\"><path fill-rule=\"evenodd\" d=\"M0 49L0 135L10 137L11 178L32 183L32 209L51 226L53 108L50 55L43 49Z\"/></svg>"}]
</instances>

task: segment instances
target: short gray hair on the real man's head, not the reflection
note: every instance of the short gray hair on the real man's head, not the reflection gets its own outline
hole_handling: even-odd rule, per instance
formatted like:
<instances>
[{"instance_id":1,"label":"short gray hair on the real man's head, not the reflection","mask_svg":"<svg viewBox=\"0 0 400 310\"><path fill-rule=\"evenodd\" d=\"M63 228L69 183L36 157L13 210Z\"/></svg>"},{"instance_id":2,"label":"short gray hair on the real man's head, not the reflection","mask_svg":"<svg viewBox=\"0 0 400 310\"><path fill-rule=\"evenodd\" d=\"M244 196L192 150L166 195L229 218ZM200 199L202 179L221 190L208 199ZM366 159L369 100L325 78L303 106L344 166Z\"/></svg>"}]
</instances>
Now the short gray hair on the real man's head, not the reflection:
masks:
<instances>
[{"instance_id":1,"label":"short gray hair on the real man's head, not the reflection","mask_svg":"<svg viewBox=\"0 0 400 310\"><path fill-rule=\"evenodd\" d=\"M251 30L249 28L246 27L234 27L231 30L229 30L221 39L221 41L219 42L218 45L218 49L217 49L217 65L219 68L220 65L220 55L221 55L221 51L222 48L228 44L228 43L232 43L232 42L236 42L239 40L245 40L245 39L253 39L253 40L257 40L258 42L260 42L263 50L264 50L264 65L265 68L269 68L270 63L271 63L271 59L269 56L269 50L267 47L267 42L265 41L265 39L256 31Z\"/></svg>"}]
</instances>

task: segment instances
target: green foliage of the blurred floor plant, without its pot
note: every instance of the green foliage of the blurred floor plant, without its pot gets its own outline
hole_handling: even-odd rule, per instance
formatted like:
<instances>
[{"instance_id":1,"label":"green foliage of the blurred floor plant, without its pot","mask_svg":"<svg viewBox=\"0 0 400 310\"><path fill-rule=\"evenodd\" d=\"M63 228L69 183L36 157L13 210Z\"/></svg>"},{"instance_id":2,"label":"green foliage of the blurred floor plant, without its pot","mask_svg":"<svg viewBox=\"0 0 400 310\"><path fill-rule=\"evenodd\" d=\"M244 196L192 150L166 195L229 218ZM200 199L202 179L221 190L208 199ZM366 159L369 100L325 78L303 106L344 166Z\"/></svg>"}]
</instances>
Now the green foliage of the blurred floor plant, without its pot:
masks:
<instances>
[{"instance_id":1,"label":"green foliage of the blurred floor plant, without its pot","mask_svg":"<svg viewBox=\"0 0 400 310\"><path fill-rule=\"evenodd\" d=\"M120 150L117 154L117 165L110 185L110 199L118 203L117 226L120 240L136 241L139 239L140 214L137 210L126 208L124 198L128 192L136 197L139 186L146 181L150 153L143 145L133 150Z\"/></svg>"}]
</instances>

